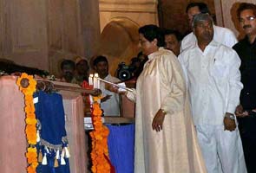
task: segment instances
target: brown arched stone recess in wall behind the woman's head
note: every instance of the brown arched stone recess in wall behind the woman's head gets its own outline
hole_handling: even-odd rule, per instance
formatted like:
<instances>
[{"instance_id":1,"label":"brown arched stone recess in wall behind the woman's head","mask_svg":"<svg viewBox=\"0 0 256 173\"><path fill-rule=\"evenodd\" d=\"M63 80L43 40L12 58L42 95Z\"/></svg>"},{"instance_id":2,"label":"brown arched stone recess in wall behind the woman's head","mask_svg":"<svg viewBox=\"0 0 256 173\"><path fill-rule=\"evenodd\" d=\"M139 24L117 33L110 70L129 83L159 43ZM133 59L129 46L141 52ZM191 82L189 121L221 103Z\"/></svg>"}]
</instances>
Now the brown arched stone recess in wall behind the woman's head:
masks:
<instances>
[{"instance_id":1,"label":"brown arched stone recess in wall behind the woman's head","mask_svg":"<svg viewBox=\"0 0 256 173\"><path fill-rule=\"evenodd\" d=\"M114 75L120 62L129 64L130 59L140 51L139 24L128 17L115 17L102 30L97 54L106 55L109 61L109 72Z\"/></svg>"}]
</instances>

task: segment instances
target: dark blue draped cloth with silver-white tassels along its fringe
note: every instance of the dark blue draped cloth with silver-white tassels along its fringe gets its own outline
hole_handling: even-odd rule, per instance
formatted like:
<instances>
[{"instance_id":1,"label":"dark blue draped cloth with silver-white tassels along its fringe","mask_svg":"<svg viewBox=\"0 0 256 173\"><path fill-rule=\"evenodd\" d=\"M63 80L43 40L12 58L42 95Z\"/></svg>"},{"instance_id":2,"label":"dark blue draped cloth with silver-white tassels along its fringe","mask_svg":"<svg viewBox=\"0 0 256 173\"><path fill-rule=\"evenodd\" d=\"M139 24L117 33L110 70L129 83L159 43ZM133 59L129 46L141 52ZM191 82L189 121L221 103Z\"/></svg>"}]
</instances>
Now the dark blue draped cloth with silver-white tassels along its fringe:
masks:
<instances>
[{"instance_id":1,"label":"dark blue draped cloth with silver-white tassels along its fringe","mask_svg":"<svg viewBox=\"0 0 256 173\"><path fill-rule=\"evenodd\" d=\"M37 144L37 151L47 156L47 165L39 165L36 168L38 173L69 173L69 159L64 158L66 164L61 165L58 159L58 167L54 167L56 151L63 150L67 146L67 133L65 130L65 114L62 104L62 95L58 93L35 93L34 98L38 98L35 103L36 119L40 121L41 142ZM46 149L47 148L47 149Z\"/></svg>"}]
</instances>

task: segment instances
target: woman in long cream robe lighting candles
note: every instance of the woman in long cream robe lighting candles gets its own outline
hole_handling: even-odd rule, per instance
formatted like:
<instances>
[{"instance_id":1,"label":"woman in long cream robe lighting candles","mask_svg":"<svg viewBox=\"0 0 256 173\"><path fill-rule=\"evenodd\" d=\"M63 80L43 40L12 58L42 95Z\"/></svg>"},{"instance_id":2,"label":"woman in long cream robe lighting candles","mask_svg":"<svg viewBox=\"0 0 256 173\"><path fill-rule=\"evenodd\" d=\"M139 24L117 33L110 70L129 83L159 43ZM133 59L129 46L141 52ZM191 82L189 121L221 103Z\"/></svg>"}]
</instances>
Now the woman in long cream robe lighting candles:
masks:
<instances>
[{"instance_id":1,"label":"woman in long cream robe lighting candles","mask_svg":"<svg viewBox=\"0 0 256 173\"><path fill-rule=\"evenodd\" d=\"M207 172L194 131L187 89L177 57L160 48L155 25L139 29L148 55L136 89L127 97L136 103L135 173Z\"/></svg>"}]
</instances>

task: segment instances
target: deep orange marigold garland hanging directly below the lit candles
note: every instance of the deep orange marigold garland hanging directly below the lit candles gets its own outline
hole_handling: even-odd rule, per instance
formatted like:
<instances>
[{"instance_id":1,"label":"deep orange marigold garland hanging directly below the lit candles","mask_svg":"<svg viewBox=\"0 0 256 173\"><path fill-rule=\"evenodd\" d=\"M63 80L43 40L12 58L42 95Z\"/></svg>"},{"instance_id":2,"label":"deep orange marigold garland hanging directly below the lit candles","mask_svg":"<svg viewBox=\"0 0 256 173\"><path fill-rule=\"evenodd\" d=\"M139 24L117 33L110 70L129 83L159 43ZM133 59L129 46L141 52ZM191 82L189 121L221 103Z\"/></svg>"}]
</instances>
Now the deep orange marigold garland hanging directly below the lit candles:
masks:
<instances>
[{"instance_id":1,"label":"deep orange marigold garland hanging directly below the lit candles","mask_svg":"<svg viewBox=\"0 0 256 173\"><path fill-rule=\"evenodd\" d=\"M97 102L100 97L94 97L94 103L92 104L92 122L94 125L94 131L89 134L92 138L92 172L93 173L109 173L110 164L108 157L108 128L102 124L102 109Z\"/></svg>"}]
</instances>

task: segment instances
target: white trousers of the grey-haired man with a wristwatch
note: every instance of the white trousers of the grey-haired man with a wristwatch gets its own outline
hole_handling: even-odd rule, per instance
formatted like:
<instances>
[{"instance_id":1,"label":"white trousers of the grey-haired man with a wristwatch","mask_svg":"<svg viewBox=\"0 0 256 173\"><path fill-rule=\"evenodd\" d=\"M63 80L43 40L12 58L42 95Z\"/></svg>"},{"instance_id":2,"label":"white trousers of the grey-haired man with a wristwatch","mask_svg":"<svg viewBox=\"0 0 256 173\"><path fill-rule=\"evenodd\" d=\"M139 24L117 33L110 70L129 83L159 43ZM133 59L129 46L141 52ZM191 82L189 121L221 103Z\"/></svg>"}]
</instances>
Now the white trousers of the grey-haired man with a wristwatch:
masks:
<instances>
[{"instance_id":1,"label":"white trousers of the grey-haired man with a wristwatch","mask_svg":"<svg viewBox=\"0 0 256 173\"><path fill-rule=\"evenodd\" d=\"M196 125L200 149L208 173L246 173L238 128L224 131L223 125Z\"/></svg>"}]
</instances>

